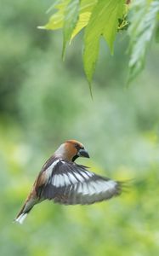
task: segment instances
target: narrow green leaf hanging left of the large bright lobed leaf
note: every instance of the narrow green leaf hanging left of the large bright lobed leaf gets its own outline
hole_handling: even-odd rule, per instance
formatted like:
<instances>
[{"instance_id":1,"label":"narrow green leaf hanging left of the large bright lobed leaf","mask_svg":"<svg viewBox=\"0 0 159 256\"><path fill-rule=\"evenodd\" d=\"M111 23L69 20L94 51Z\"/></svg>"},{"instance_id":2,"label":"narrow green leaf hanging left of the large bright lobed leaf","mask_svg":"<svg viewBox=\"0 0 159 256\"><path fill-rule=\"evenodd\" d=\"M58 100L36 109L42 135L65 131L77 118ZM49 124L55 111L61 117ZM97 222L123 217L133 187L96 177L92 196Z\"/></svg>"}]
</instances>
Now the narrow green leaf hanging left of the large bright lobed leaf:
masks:
<instances>
[{"instance_id":1,"label":"narrow green leaf hanging left of the large bright lobed leaf","mask_svg":"<svg viewBox=\"0 0 159 256\"><path fill-rule=\"evenodd\" d=\"M65 8L64 28L63 28L63 50L62 56L65 55L65 46L71 40L71 34L77 25L79 12L79 0L71 0Z\"/></svg>"}]
</instances>

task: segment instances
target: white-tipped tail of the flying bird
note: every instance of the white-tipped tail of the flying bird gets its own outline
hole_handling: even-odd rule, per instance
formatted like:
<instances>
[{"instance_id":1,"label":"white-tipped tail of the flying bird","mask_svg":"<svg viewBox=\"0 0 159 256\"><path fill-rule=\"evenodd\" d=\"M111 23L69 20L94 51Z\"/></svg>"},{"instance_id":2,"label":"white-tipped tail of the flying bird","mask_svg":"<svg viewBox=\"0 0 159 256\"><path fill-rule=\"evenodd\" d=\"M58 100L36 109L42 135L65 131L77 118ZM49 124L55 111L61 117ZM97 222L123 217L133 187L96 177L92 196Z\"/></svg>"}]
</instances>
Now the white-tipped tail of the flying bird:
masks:
<instances>
[{"instance_id":1,"label":"white-tipped tail of the flying bird","mask_svg":"<svg viewBox=\"0 0 159 256\"><path fill-rule=\"evenodd\" d=\"M21 208L17 217L14 218L14 222L18 222L19 224L23 224L27 214L31 212L32 207L37 203L35 199L26 200L24 206Z\"/></svg>"}]
</instances>

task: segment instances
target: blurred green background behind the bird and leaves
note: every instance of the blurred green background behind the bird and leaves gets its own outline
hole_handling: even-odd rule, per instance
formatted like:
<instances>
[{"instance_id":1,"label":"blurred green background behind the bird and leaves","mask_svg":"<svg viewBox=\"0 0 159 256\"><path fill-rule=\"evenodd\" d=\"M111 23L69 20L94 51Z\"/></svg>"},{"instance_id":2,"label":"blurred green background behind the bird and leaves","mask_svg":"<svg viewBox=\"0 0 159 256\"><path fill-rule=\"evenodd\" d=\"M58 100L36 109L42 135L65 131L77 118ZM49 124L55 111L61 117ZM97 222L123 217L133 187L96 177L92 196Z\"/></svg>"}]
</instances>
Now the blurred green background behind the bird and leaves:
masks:
<instances>
[{"instance_id":1,"label":"blurred green background behind the bird and leaves","mask_svg":"<svg viewBox=\"0 0 159 256\"><path fill-rule=\"evenodd\" d=\"M118 35L114 57L101 42L92 101L82 35L62 62L61 33L37 30L51 3L1 0L0 255L159 255L158 45L127 88L128 38ZM23 225L14 224L44 161L70 138L91 156L78 163L134 178L128 193L84 207L46 201Z\"/></svg>"}]
</instances>

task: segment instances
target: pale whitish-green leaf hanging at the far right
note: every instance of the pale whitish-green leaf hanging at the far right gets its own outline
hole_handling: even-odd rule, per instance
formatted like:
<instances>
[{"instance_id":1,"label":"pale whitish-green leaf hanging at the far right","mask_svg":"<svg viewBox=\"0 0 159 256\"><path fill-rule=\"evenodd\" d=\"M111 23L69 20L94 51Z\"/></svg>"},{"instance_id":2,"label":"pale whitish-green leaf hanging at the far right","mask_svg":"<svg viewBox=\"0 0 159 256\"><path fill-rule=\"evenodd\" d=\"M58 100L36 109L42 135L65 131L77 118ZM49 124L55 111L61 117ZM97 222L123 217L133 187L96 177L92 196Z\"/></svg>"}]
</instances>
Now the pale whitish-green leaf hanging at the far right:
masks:
<instances>
[{"instance_id":1,"label":"pale whitish-green leaf hanging at the far right","mask_svg":"<svg viewBox=\"0 0 159 256\"><path fill-rule=\"evenodd\" d=\"M128 83L142 70L145 64L145 55L155 32L159 1L134 1L133 11L136 12L129 27L130 61Z\"/></svg>"}]
</instances>

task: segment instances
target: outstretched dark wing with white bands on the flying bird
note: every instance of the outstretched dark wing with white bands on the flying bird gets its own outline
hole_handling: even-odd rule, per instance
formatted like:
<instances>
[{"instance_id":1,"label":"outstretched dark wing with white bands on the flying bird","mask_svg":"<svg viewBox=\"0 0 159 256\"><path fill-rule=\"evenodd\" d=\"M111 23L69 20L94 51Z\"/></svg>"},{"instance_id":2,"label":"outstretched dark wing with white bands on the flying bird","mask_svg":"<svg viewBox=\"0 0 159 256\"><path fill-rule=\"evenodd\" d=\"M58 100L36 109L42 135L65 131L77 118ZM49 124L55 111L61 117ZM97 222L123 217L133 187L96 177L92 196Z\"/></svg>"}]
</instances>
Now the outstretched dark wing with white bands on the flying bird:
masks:
<instances>
[{"instance_id":1,"label":"outstretched dark wing with white bands on the flying bird","mask_svg":"<svg viewBox=\"0 0 159 256\"><path fill-rule=\"evenodd\" d=\"M57 160L52 172L50 167L45 172L49 176L48 181L37 189L37 195L41 199L65 205L85 205L108 200L122 192L122 183L64 160Z\"/></svg>"}]
</instances>

